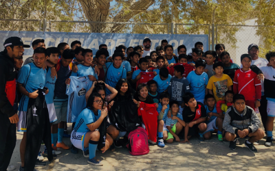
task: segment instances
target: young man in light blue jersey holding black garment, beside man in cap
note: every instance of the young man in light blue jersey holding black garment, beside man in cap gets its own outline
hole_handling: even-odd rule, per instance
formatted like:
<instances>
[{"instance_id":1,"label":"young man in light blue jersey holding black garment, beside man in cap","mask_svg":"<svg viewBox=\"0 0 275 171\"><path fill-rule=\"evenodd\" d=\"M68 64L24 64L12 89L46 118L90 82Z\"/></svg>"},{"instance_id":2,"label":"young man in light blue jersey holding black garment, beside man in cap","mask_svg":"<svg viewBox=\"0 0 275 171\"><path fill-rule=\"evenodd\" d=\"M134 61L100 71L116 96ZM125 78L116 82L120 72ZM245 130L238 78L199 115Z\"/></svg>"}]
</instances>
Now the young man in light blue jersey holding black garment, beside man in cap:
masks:
<instances>
[{"instance_id":1,"label":"young man in light blue jersey holding black garment, beside man in cap","mask_svg":"<svg viewBox=\"0 0 275 171\"><path fill-rule=\"evenodd\" d=\"M37 98L39 96L39 89L42 90L45 86L45 75L47 74L47 70L43 69L43 66L45 66L46 59L45 48L39 47L34 49L34 62L23 66L17 79L19 91L23 94L19 103L19 123L17 125L17 131L23 132L23 139L20 144L21 167L19 170L24 170L25 167L28 103L30 98ZM45 94L48 92L49 90L47 90ZM31 139L32 137L28 138ZM37 151L37 154L38 153L39 151Z\"/></svg>"}]
</instances>

